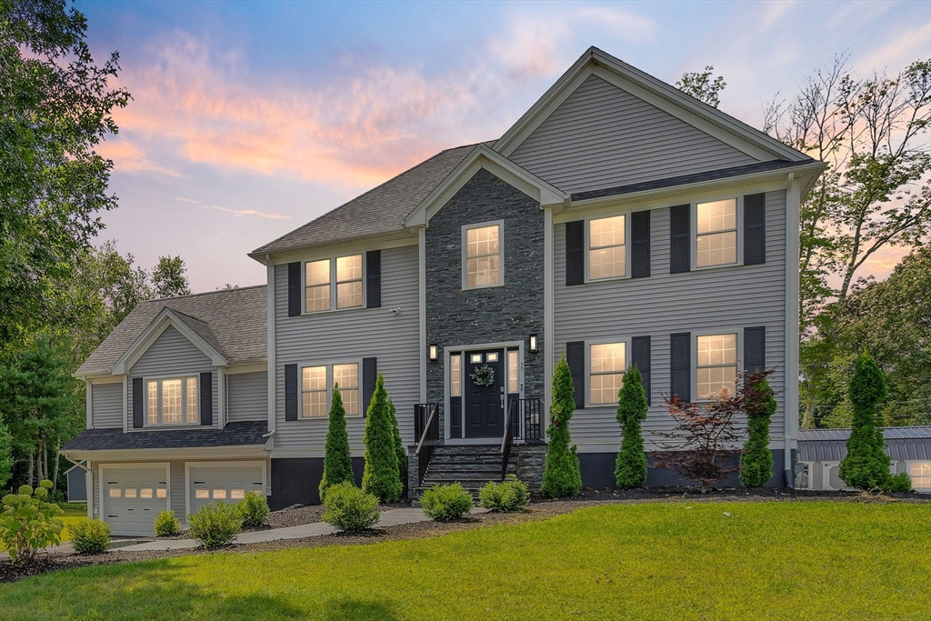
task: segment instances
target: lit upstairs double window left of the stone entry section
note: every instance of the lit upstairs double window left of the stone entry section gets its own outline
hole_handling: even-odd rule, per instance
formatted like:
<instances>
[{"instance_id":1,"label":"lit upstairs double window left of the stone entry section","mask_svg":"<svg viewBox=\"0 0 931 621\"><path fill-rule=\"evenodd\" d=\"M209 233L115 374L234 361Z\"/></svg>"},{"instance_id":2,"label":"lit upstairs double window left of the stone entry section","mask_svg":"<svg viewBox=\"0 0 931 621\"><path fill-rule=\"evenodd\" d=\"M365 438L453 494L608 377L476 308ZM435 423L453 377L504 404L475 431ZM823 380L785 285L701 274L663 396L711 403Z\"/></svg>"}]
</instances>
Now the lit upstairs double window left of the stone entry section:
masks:
<instances>
[{"instance_id":1,"label":"lit upstairs double window left of the stone entry section","mask_svg":"<svg viewBox=\"0 0 931 621\"><path fill-rule=\"evenodd\" d=\"M304 312L362 306L362 255L304 263Z\"/></svg>"}]
</instances>

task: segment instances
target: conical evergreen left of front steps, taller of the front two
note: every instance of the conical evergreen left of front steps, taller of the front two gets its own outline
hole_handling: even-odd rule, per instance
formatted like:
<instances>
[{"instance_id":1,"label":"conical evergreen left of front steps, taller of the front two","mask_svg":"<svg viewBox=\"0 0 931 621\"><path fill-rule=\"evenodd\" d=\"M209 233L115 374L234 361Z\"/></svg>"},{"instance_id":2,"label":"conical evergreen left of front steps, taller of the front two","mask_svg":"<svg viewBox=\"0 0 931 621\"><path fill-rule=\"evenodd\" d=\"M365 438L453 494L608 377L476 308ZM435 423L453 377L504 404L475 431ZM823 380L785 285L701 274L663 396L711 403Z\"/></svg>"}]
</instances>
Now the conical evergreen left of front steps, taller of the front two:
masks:
<instances>
[{"instance_id":1,"label":"conical evergreen left of front steps, taller of the front two","mask_svg":"<svg viewBox=\"0 0 931 621\"><path fill-rule=\"evenodd\" d=\"M362 490L378 496L383 503L394 503L400 498L403 487L388 403L385 378L379 375L366 413Z\"/></svg>"}]
</instances>

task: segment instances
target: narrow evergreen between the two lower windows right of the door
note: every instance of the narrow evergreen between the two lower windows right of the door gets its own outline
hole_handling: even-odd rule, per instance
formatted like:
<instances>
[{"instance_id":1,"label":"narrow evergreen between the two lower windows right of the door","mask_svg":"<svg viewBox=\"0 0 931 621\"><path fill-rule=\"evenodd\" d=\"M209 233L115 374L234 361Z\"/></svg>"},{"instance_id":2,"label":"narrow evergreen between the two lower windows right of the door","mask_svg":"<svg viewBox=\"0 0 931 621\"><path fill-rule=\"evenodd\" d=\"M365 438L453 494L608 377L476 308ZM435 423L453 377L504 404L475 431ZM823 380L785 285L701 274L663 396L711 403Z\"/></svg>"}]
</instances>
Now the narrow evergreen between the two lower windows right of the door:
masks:
<instances>
[{"instance_id":1,"label":"narrow evergreen between the two lower windows right of the door","mask_svg":"<svg viewBox=\"0 0 931 621\"><path fill-rule=\"evenodd\" d=\"M625 490L646 483L646 453L643 452L641 423L646 420L647 402L643 378L634 365L624 373L617 398L617 422L621 425L621 450L617 453L614 479Z\"/></svg>"}]
</instances>

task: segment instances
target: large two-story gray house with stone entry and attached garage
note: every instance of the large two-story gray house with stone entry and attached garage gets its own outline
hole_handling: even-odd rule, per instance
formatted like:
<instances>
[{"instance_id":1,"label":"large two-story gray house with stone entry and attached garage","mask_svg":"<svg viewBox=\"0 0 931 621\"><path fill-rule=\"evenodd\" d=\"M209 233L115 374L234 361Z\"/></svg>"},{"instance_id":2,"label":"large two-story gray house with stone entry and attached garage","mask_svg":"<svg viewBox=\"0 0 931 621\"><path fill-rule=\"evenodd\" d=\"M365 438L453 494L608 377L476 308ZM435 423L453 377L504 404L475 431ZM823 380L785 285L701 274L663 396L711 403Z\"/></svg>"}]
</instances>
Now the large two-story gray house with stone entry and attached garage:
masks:
<instances>
[{"instance_id":1,"label":"large two-story gray house with stone entry and attached garage","mask_svg":"<svg viewBox=\"0 0 931 621\"><path fill-rule=\"evenodd\" d=\"M775 369L772 483L790 483L799 205L823 169L592 47L499 139L251 252L265 286L141 304L77 371L88 430L62 452L90 468L88 513L117 533L251 489L317 502L332 387L359 474L381 374L412 493L508 469L538 483L565 356L587 486L614 482L632 364L648 447L672 425L665 395Z\"/></svg>"}]
</instances>

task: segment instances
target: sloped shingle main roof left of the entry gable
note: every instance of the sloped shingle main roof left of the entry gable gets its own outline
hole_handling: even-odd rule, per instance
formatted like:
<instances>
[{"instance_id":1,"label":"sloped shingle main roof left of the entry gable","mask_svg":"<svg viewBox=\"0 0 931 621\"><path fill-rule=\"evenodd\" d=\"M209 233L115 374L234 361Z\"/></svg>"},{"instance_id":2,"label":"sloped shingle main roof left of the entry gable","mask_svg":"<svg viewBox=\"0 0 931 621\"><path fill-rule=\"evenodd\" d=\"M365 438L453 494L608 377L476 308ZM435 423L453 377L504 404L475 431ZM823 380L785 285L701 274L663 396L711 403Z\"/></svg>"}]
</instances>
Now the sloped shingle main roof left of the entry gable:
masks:
<instances>
[{"instance_id":1,"label":"sloped shingle main roof left of the entry gable","mask_svg":"<svg viewBox=\"0 0 931 621\"><path fill-rule=\"evenodd\" d=\"M477 145L441 151L317 220L253 250L251 254L294 250L354 237L399 231L404 218L459 166Z\"/></svg>"}]
</instances>

